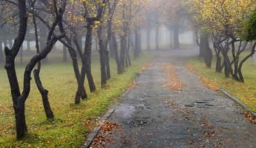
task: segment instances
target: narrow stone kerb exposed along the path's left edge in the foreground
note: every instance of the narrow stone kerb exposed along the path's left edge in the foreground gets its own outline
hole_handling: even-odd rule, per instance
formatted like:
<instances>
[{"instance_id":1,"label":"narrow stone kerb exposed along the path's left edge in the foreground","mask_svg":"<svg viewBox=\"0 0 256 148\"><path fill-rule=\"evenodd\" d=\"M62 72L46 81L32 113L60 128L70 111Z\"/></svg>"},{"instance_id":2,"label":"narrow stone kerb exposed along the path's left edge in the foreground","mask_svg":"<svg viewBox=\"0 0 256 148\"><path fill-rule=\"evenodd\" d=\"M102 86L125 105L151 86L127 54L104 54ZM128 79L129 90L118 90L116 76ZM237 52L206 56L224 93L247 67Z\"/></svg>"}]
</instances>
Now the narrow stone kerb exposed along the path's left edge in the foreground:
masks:
<instances>
[{"instance_id":1,"label":"narrow stone kerb exposed along the path's left edge in the foreground","mask_svg":"<svg viewBox=\"0 0 256 148\"><path fill-rule=\"evenodd\" d=\"M89 148L91 146L91 143L93 142L93 139L100 132L100 127L102 126L104 121L106 121L107 118L109 118L109 116L111 116L111 114L113 113L114 110L115 109L109 109L106 112L106 114L104 114L104 116L102 116L98 126L94 127L94 129L91 131L91 133L88 136L86 136L86 140L84 142L82 142L82 145L80 146L80 148Z\"/></svg>"}]
</instances>

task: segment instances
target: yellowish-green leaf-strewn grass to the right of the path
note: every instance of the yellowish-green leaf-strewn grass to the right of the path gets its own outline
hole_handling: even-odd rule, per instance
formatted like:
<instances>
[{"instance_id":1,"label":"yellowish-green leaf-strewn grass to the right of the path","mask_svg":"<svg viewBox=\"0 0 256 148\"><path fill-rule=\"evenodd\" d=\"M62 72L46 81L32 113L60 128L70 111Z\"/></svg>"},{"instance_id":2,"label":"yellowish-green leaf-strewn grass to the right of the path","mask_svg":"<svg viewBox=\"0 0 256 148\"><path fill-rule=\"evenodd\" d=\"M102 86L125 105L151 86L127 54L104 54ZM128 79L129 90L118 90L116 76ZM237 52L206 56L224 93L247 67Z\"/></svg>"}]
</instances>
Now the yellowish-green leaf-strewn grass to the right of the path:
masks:
<instances>
[{"instance_id":1,"label":"yellowish-green leaf-strewn grass to the right of the path","mask_svg":"<svg viewBox=\"0 0 256 148\"><path fill-rule=\"evenodd\" d=\"M241 55L244 57L248 52ZM245 83L239 83L232 78L226 78L222 73L215 72L215 57L212 60L212 68L205 67L203 59L194 57L188 61L198 74L202 74L214 81L219 87L226 90L232 96L235 96L240 101L248 105L254 112L256 112L256 65L252 64L252 59L248 59L242 67Z\"/></svg>"}]
</instances>

